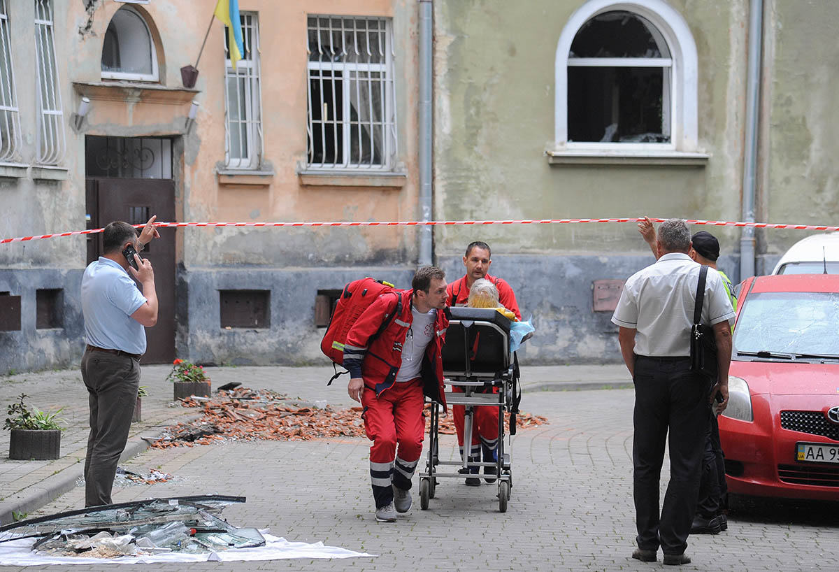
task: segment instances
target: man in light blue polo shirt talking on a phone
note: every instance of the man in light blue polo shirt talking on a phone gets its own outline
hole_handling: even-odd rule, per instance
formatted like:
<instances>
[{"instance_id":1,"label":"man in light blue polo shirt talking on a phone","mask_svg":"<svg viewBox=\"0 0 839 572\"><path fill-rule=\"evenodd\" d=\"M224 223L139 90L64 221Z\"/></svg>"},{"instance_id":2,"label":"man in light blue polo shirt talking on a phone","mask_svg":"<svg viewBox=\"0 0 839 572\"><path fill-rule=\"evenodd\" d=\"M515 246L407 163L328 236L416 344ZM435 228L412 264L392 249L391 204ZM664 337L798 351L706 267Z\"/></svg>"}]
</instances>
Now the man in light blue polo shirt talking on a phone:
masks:
<instances>
[{"instance_id":1,"label":"man in light blue polo shirt talking on a phone","mask_svg":"<svg viewBox=\"0 0 839 572\"><path fill-rule=\"evenodd\" d=\"M122 254L137 252L159 237L152 216L140 236L127 222L112 222L102 231L104 254L88 265L81 279L81 313L87 346L81 377L90 403L91 432L85 458L85 506L112 504L113 478L125 444L140 383L140 356L146 331L157 323L158 299L149 260L133 255L135 270ZM129 276L130 273L130 276ZM137 288L133 279L142 285Z\"/></svg>"}]
</instances>

